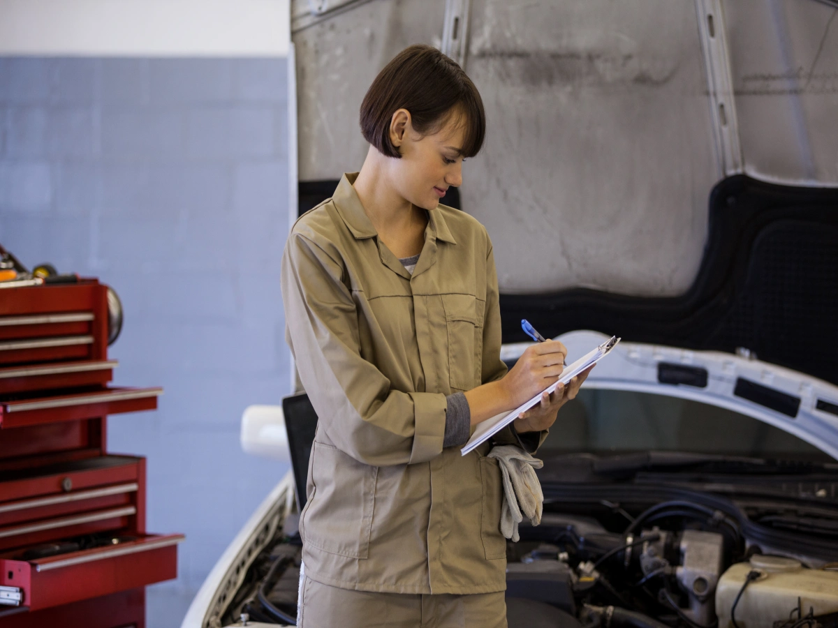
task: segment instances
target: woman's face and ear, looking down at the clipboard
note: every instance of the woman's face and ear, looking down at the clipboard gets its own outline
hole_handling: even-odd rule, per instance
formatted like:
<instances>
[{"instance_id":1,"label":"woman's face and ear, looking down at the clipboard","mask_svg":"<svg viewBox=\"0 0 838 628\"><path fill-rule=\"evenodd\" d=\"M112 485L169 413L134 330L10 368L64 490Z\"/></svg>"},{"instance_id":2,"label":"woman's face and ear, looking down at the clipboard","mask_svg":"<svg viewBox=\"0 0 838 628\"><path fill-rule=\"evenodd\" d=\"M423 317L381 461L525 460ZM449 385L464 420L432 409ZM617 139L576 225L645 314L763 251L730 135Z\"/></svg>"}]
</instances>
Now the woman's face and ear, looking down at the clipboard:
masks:
<instances>
[{"instance_id":1,"label":"woman's face and ear, looking down at the clipboard","mask_svg":"<svg viewBox=\"0 0 838 628\"><path fill-rule=\"evenodd\" d=\"M392 184L402 198L418 207L433 209L440 202L445 203L450 186L458 188L463 183L460 149L464 123L463 116L454 112L437 132L422 135L413 130L406 110L396 111L391 140L399 147L401 159L391 158L389 162Z\"/></svg>"}]
</instances>

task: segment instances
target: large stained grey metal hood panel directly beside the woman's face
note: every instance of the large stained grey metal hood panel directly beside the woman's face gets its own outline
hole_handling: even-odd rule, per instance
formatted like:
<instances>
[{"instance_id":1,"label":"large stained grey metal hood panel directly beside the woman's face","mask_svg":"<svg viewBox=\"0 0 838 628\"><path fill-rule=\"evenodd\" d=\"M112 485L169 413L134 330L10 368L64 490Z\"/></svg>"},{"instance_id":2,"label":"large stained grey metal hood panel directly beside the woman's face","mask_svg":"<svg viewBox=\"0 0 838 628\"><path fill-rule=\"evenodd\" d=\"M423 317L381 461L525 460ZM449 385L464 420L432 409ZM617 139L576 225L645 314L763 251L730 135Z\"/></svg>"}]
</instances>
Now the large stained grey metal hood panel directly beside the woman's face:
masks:
<instances>
[{"instance_id":1,"label":"large stained grey metal hood panel directly beside the woman's face","mask_svg":"<svg viewBox=\"0 0 838 628\"><path fill-rule=\"evenodd\" d=\"M489 131L463 208L501 291L685 291L720 172L695 4L473 0L469 31Z\"/></svg>"}]
</instances>

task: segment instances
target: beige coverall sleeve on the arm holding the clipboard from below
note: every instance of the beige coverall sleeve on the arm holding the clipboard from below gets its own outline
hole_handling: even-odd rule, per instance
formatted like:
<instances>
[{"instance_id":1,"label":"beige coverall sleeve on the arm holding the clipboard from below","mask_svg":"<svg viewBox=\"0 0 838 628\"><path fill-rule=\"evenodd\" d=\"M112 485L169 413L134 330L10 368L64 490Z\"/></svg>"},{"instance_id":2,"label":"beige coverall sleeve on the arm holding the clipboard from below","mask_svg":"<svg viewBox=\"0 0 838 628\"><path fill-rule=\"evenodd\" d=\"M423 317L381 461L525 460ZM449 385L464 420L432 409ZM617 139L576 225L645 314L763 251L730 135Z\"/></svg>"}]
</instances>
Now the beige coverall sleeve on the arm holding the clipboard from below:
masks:
<instances>
[{"instance_id":1,"label":"beige coverall sleeve on the arm holding the clipboard from below","mask_svg":"<svg viewBox=\"0 0 838 628\"><path fill-rule=\"evenodd\" d=\"M489 237L488 235L486 236ZM489 242L486 258L486 311L483 328L483 383L501 379L507 372L506 363L500 359L500 303L498 296L498 271L494 267L494 250ZM549 430L517 434L512 425L492 436L496 445L520 445L530 454L535 453L546 440Z\"/></svg>"}]
</instances>

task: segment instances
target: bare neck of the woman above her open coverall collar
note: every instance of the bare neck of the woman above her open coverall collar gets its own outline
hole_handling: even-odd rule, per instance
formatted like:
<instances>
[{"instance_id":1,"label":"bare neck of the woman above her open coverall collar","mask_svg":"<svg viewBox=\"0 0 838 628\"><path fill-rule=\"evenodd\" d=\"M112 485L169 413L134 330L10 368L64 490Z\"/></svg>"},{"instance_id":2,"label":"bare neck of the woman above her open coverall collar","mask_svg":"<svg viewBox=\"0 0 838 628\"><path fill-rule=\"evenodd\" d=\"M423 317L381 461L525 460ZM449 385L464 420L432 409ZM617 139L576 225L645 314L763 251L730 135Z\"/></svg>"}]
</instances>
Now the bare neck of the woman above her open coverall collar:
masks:
<instances>
[{"instance_id":1,"label":"bare neck of the woman above her open coverall collar","mask_svg":"<svg viewBox=\"0 0 838 628\"><path fill-rule=\"evenodd\" d=\"M409 257L422 250L427 213L402 197L390 183L388 164L375 147L370 147L353 187L380 239L397 257Z\"/></svg>"}]
</instances>

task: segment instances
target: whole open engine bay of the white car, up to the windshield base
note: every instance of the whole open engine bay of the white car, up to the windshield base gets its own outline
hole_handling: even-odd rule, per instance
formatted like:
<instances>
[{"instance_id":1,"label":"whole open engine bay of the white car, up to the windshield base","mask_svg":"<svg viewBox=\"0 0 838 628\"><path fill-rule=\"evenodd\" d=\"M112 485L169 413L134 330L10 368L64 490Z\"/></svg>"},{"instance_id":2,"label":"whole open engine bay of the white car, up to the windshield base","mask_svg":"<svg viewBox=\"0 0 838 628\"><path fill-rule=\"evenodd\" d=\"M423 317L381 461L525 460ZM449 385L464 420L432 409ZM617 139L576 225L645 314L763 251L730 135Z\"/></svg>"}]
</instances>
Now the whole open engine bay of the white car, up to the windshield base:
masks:
<instances>
[{"instance_id":1,"label":"whole open engine bay of the white car, up to the windshield base","mask_svg":"<svg viewBox=\"0 0 838 628\"><path fill-rule=\"evenodd\" d=\"M546 460L541 524L507 542L510 628L838 627L835 465L644 456ZM221 625L294 624L294 528L252 562Z\"/></svg>"}]
</instances>

